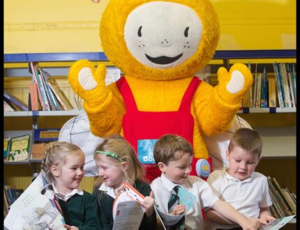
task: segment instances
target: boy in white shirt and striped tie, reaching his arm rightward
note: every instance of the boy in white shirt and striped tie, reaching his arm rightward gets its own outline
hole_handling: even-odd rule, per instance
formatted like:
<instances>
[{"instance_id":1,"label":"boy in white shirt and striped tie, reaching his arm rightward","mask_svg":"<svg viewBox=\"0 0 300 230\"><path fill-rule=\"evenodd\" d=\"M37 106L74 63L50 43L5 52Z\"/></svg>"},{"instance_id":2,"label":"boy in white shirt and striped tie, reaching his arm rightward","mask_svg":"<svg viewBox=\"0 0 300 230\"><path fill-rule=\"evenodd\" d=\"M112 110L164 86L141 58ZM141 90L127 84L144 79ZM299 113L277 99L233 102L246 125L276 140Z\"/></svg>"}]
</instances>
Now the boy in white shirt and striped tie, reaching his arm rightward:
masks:
<instances>
[{"instance_id":1,"label":"boy in white shirt and striped tie, reaching his arm rightward","mask_svg":"<svg viewBox=\"0 0 300 230\"><path fill-rule=\"evenodd\" d=\"M178 135L163 135L153 148L153 156L162 172L161 176L151 183L156 207L160 213L180 215L185 212L185 206L179 205L178 202L170 206L172 203L170 198L173 197L174 188L177 186L195 196L193 206L187 210L186 215L167 229L204 229L202 208L213 208L220 215L238 223L243 229L260 228L258 219L248 220L230 204L218 199L207 182L197 176L189 176L193 148L186 139Z\"/></svg>"}]
</instances>

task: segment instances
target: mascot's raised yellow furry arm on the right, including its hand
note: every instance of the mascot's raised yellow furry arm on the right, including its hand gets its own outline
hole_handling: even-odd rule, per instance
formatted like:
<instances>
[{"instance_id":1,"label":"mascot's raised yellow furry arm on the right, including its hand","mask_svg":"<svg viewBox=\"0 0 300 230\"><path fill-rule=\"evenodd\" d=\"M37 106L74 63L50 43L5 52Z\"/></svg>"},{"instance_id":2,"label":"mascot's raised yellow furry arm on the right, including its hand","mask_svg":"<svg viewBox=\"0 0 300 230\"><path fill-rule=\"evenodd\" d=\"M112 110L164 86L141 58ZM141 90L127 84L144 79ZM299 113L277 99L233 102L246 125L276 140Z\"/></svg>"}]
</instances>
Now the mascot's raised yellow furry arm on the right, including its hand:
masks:
<instances>
[{"instance_id":1,"label":"mascot's raised yellow furry arm on the right, including its hand","mask_svg":"<svg viewBox=\"0 0 300 230\"><path fill-rule=\"evenodd\" d=\"M243 94L253 83L253 77L245 65L237 63L229 72L220 68L218 82L214 88L202 82L193 102L198 127L207 136L227 130L237 114Z\"/></svg>"}]
</instances>

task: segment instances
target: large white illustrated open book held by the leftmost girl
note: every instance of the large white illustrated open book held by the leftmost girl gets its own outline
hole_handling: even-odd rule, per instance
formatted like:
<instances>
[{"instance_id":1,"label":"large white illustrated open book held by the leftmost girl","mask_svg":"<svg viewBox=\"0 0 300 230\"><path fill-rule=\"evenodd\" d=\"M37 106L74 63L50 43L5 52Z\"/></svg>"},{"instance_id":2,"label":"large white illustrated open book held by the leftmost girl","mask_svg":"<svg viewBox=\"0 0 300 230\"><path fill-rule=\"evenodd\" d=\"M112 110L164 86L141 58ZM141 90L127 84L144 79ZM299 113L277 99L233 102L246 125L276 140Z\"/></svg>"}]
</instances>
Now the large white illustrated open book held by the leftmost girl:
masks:
<instances>
[{"instance_id":1,"label":"large white illustrated open book held by the leftmost girl","mask_svg":"<svg viewBox=\"0 0 300 230\"><path fill-rule=\"evenodd\" d=\"M6 229L66 229L52 186L43 171L10 206L4 220Z\"/></svg>"}]
</instances>

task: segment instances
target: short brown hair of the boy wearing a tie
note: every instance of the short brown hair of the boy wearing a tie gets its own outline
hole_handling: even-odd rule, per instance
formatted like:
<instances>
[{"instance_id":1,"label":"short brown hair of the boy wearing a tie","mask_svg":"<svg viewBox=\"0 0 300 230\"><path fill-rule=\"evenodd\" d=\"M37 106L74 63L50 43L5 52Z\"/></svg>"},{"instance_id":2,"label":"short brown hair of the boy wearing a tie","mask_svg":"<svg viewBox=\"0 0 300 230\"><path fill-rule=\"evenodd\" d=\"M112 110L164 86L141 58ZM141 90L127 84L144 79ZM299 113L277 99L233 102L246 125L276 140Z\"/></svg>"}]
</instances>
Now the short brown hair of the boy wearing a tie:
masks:
<instances>
[{"instance_id":1,"label":"short brown hair of the boy wearing a tie","mask_svg":"<svg viewBox=\"0 0 300 230\"><path fill-rule=\"evenodd\" d=\"M168 164L171 160L179 160L182 153L193 155L193 147L186 139L179 135L163 135L156 141L153 157L156 162Z\"/></svg>"}]
</instances>

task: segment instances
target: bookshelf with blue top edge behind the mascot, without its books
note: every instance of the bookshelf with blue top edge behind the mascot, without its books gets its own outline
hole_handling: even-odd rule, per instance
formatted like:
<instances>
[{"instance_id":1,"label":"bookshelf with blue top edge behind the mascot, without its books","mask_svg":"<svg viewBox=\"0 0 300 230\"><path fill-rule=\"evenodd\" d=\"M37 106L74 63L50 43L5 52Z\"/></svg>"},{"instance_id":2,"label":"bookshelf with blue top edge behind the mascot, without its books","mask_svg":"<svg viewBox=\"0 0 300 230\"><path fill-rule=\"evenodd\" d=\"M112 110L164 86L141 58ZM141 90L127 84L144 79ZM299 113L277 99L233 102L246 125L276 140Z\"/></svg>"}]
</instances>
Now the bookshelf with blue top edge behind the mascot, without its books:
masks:
<instances>
[{"instance_id":1,"label":"bookshelf with blue top edge behind the mascot, without its books","mask_svg":"<svg viewBox=\"0 0 300 230\"><path fill-rule=\"evenodd\" d=\"M218 50L211 61L211 72L216 72L220 66L230 67L231 63L239 59L247 63L253 59L260 59L260 63L271 63L269 59L295 60L295 49L272 49L272 50ZM105 63L112 66L103 52L78 52L78 53L44 53L44 54L4 54L4 77L11 84L19 81L30 81L27 62L38 61L43 69L50 72L51 76L61 78L61 81L68 84L66 75L68 68L78 59L89 59L90 61ZM278 61L279 62L279 61ZM54 75L52 73L55 72ZM213 82L212 82L213 84ZM24 84L26 85L26 84ZM22 87L22 86L20 86ZM28 87L28 84L27 84ZM4 81L6 88L6 81ZM70 95L69 95L70 96ZM73 100L73 98L70 98ZM26 101L26 100L25 100ZM273 176L282 181L296 192L296 108L243 108L238 115L244 118L255 130L264 134L265 141L262 160L257 170L265 175ZM4 130L30 130L33 125L39 128L61 128L68 119L73 116L84 114L83 110L73 109L70 111L40 111L40 112L4 112ZM20 123L20 121L22 121ZM18 125L16 125L18 124ZM272 142L272 139L276 141ZM286 143L278 139L287 140ZM267 140L267 141L266 141ZM277 149L276 153L273 149ZM283 151L282 150L288 150ZM271 167L270 167L271 164ZM39 170L40 160L29 160L22 165L20 162L4 165L4 180L20 188L26 188L31 182L33 172ZM285 175L276 170L285 167ZM20 170L16 170L19 169ZM268 169L272 169L268 171ZM269 175L271 174L271 175ZM289 175L289 176L287 176ZM291 176L292 175L292 176ZM93 178L84 178L82 187L91 191Z\"/></svg>"}]
</instances>

